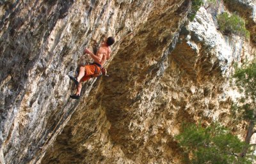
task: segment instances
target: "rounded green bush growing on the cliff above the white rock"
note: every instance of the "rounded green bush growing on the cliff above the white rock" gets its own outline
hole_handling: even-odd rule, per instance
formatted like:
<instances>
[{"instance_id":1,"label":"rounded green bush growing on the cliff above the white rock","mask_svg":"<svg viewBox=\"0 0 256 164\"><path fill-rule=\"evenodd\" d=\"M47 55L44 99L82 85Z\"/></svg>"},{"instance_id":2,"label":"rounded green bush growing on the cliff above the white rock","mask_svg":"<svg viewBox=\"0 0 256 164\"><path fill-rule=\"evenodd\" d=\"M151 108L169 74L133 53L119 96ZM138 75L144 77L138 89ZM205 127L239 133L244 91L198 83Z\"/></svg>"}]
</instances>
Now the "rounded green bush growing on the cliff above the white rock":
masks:
<instances>
[{"instance_id":1,"label":"rounded green bush growing on the cliff above the white rock","mask_svg":"<svg viewBox=\"0 0 256 164\"><path fill-rule=\"evenodd\" d=\"M245 27L244 20L238 15L229 16L227 12L217 17L220 31L224 34L237 34L249 38L250 32Z\"/></svg>"}]
</instances>

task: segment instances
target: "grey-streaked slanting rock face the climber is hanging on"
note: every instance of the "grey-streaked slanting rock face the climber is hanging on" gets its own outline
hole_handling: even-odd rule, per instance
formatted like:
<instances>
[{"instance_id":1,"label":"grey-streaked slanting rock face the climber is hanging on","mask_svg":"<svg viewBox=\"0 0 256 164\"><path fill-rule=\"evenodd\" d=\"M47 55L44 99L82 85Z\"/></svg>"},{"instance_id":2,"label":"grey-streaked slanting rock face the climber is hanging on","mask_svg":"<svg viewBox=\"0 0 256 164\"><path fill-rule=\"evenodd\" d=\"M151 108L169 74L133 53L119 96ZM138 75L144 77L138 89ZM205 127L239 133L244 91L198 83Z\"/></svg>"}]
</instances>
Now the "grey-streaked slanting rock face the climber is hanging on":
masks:
<instances>
[{"instance_id":1,"label":"grey-streaked slanting rock face the climber is hanging on","mask_svg":"<svg viewBox=\"0 0 256 164\"><path fill-rule=\"evenodd\" d=\"M138 17L147 19L152 3L3 3L0 134L3 162L32 160L33 163L42 157L46 145L60 133L79 103L69 100L74 87L67 73L75 70L80 61L89 62L88 58L81 60L84 47L97 47L104 34L121 41L133 27L143 23L135 21ZM139 7L143 10L138 10ZM118 42L114 53L115 48L118 49ZM84 95L90 92L93 82L84 87Z\"/></svg>"}]
</instances>

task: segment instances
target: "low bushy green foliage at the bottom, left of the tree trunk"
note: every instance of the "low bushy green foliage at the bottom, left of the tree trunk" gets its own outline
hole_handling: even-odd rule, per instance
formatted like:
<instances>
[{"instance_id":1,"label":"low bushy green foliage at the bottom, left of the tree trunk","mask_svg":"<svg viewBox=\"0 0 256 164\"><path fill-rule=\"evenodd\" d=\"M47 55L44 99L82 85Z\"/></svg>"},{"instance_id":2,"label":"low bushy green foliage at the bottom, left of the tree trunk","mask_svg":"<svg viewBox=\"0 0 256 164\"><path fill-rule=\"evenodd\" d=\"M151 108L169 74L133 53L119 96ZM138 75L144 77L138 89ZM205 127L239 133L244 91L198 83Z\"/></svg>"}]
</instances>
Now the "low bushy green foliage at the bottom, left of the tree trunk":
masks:
<instances>
[{"instance_id":1,"label":"low bushy green foliage at the bottom, left of the tree trunk","mask_svg":"<svg viewBox=\"0 0 256 164\"><path fill-rule=\"evenodd\" d=\"M249 158L239 156L246 144L219 124L212 124L206 128L186 124L175 138L184 149L184 163L252 163Z\"/></svg>"}]
</instances>

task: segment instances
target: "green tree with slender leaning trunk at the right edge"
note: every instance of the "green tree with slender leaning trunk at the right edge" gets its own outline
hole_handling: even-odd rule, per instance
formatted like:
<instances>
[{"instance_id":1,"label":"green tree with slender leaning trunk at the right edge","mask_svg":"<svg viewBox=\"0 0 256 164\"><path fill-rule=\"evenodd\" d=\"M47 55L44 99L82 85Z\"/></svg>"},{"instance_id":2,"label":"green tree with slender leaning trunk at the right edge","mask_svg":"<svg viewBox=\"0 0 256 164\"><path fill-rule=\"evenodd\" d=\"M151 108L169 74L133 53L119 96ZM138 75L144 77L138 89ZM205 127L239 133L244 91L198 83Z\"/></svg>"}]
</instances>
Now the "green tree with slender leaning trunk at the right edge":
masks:
<instances>
[{"instance_id":1,"label":"green tree with slender leaning trunk at the right edge","mask_svg":"<svg viewBox=\"0 0 256 164\"><path fill-rule=\"evenodd\" d=\"M240 154L243 157L248 154L248 149L255 145L250 145L250 140L253 133L256 133L256 63L253 62L246 66L246 68L237 68L234 78L236 79L236 86L243 96L239 99L239 103L236 103L232 108L233 113L237 118L248 122L244 140L247 145Z\"/></svg>"}]
</instances>

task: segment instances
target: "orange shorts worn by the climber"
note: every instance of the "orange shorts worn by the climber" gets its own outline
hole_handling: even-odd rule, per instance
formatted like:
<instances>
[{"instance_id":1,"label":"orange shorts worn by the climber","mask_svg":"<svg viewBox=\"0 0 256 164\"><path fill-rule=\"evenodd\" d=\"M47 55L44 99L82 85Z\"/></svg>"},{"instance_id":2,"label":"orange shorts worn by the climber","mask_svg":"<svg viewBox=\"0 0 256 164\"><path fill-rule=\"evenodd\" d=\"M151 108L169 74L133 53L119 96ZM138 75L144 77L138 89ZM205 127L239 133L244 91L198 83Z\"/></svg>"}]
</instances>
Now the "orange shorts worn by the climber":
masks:
<instances>
[{"instance_id":1,"label":"orange shorts worn by the climber","mask_svg":"<svg viewBox=\"0 0 256 164\"><path fill-rule=\"evenodd\" d=\"M97 77L100 75L101 68L97 64L89 64L84 66L84 68L84 77L81 79L81 82L84 82L92 77Z\"/></svg>"}]
</instances>

